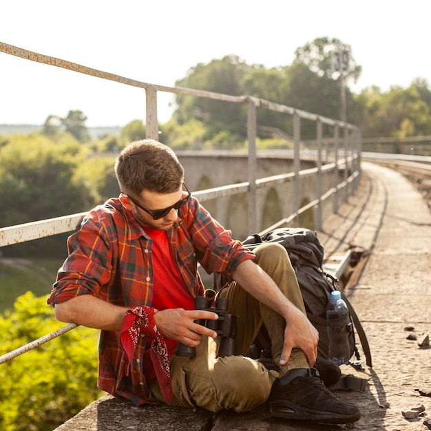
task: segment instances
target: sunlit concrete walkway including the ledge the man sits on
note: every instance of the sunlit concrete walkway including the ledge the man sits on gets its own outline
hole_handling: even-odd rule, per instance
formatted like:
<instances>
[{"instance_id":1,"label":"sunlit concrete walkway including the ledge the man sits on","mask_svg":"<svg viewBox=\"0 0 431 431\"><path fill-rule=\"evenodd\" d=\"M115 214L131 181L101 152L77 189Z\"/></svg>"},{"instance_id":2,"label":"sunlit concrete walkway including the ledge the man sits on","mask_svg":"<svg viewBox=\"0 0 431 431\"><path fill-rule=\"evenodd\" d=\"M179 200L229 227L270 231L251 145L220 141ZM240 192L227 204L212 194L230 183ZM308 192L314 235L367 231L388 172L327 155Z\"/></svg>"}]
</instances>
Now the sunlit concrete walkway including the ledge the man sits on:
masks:
<instances>
[{"instance_id":1,"label":"sunlit concrete walkway including the ledge the man sits on","mask_svg":"<svg viewBox=\"0 0 431 431\"><path fill-rule=\"evenodd\" d=\"M363 322L373 367L359 372L344 366L345 374L357 374L368 384L365 392L337 391L337 395L359 406L362 417L355 430L425 431L424 421L431 421L431 398L421 394L427 388L431 391L431 348L419 348L417 340L407 337L431 335L431 214L419 193L396 171L364 162L363 174L358 193L318 233L327 257L348 249L362 255L344 290ZM413 330L406 331L408 326ZM424 406L425 416L405 419L402 412L418 404ZM103 397L56 430L346 428L271 419L263 408L213 416L169 406L136 408Z\"/></svg>"}]
</instances>

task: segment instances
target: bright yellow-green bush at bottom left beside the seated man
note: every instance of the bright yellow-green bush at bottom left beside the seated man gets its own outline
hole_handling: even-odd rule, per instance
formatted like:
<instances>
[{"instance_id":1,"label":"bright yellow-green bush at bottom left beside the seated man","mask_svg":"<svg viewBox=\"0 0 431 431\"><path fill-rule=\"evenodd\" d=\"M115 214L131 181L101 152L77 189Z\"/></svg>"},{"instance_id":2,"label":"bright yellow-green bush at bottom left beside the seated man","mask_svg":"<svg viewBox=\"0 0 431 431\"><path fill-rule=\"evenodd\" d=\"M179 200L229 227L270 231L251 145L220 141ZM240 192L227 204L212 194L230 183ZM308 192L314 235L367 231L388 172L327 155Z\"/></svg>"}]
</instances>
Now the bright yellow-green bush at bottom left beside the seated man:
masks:
<instances>
[{"instance_id":1,"label":"bright yellow-green bush at bottom left beside the seated man","mask_svg":"<svg viewBox=\"0 0 431 431\"><path fill-rule=\"evenodd\" d=\"M0 353L64 326L46 297L28 292L0 317ZM0 429L48 431L102 395L97 384L98 331L78 327L0 366Z\"/></svg>"}]
</instances>

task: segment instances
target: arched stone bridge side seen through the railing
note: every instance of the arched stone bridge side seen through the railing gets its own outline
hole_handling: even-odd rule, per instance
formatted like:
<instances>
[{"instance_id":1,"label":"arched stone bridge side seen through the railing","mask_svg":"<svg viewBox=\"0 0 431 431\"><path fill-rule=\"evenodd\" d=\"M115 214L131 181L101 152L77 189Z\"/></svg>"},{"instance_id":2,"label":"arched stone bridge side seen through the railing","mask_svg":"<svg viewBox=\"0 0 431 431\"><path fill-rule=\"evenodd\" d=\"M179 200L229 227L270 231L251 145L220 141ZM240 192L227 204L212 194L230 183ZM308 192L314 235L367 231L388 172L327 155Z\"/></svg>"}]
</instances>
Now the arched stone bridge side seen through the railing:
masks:
<instances>
[{"instance_id":1,"label":"arched stone bridge side seen through the railing","mask_svg":"<svg viewBox=\"0 0 431 431\"><path fill-rule=\"evenodd\" d=\"M185 168L185 182L190 191L211 189L223 185L237 184L248 181L248 158L246 154L227 154L211 151L176 151L178 158ZM301 160L299 169L316 166L313 160ZM277 153L274 155L258 156L257 176L264 178L293 171L293 158L290 155ZM335 180L333 173L322 172L321 187L326 191L333 187ZM317 198L317 177L300 177L299 207ZM224 227L230 229L233 237L242 240L248 232L248 198L246 193L202 203L206 209ZM257 226L259 231L271 226L293 213L293 185L291 182L271 185L257 190ZM323 218L332 213L331 202L324 205ZM297 225L315 229L315 215L313 209L299 216Z\"/></svg>"}]
</instances>

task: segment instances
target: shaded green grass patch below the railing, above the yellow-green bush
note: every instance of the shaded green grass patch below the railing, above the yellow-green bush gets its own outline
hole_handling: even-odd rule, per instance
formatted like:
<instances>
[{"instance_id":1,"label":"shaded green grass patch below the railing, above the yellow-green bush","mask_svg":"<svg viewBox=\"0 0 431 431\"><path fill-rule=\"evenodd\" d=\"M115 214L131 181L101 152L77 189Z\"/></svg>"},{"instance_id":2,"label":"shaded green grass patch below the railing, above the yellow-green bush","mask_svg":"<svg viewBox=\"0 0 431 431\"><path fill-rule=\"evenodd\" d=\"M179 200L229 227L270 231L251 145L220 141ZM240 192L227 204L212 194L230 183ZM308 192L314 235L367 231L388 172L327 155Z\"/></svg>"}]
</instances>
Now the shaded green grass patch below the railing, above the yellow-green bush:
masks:
<instances>
[{"instance_id":1,"label":"shaded green grass patch below the railing, above the yellow-green bush","mask_svg":"<svg viewBox=\"0 0 431 431\"><path fill-rule=\"evenodd\" d=\"M3 264L0 259L0 313L12 308L15 299L25 292L48 297L61 264L63 260L40 259L16 267Z\"/></svg>"}]
</instances>

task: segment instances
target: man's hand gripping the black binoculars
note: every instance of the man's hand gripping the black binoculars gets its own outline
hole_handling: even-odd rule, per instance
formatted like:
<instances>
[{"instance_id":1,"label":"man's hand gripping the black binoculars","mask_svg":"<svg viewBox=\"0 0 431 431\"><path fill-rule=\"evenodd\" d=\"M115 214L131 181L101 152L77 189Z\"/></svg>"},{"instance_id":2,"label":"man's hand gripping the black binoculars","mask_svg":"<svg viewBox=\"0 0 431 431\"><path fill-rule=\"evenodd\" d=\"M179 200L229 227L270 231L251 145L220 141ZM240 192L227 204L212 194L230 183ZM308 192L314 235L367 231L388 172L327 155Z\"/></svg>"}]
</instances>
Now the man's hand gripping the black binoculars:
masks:
<instances>
[{"instance_id":1,"label":"man's hand gripping the black binoculars","mask_svg":"<svg viewBox=\"0 0 431 431\"><path fill-rule=\"evenodd\" d=\"M180 341L185 346L198 346L202 335L217 337L214 330L195 322L195 320L199 319L217 320L217 313L212 313L211 311L173 308L158 311L154 315L154 319L163 337Z\"/></svg>"}]
</instances>

